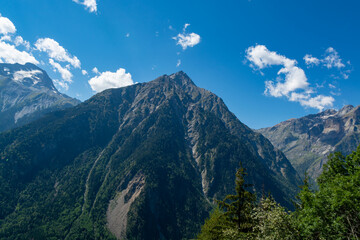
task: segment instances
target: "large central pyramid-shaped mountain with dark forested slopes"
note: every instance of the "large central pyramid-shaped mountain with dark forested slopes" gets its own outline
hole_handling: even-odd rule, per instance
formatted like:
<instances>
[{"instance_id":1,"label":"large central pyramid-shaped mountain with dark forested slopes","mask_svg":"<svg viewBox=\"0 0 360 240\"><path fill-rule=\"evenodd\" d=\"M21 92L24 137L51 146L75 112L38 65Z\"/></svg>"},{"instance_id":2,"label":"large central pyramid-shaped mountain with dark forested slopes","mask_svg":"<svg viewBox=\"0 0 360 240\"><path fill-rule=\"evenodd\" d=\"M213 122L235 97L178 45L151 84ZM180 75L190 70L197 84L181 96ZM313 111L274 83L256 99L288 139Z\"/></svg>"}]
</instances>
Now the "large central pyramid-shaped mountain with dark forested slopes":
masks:
<instances>
[{"instance_id":1,"label":"large central pyramid-shaped mountain with dark forested slopes","mask_svg":"<svg viewBox=\"0 0 360 240\"><path fill-rule=\"evenodd\" d=\"M185 73L109 89L0 135L0 237L189 239L240 162L291 206L284 154Z\"/></svg>"}]
</instances>

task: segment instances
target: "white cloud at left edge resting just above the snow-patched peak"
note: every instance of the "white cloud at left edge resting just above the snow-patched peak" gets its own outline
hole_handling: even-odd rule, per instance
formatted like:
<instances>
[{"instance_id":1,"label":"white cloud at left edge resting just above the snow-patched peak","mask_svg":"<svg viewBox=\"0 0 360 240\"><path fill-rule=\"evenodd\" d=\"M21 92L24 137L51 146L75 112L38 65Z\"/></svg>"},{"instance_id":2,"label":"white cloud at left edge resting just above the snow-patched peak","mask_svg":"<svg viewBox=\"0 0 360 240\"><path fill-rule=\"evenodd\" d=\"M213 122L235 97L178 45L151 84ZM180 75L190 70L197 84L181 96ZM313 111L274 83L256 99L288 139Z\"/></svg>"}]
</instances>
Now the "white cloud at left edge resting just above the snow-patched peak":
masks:
<instances>
[{"instance_id":1,"label":"white cloud at left edge resting just above the snow-patched peak","mask_svg":"<svg viewBox=\"0 0 360 240\"><path fill-rule=\"evenodd\" d=\"M0 63L34 63L38 64L39 62L35 59L33 55L25 51L19 51L15 46L0 41Z\"/></svg>"}]
</instances>

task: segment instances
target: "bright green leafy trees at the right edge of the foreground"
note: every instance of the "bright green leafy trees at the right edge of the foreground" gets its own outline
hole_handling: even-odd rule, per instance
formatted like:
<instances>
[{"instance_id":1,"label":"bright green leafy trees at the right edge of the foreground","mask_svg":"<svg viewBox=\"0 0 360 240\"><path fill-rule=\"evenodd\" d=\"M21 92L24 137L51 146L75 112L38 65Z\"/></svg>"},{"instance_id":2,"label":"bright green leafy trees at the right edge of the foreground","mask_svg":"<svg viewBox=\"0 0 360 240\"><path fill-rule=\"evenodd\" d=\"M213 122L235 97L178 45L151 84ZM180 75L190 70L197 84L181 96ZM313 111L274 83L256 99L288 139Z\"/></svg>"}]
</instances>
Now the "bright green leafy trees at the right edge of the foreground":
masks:
<instances>
[{"instance_id":1,"label":"bright green leafy trees at the right edge of the foreground","mask_svg":"<svg viewBox=\"0 0 360 240\"><path fill-rule=\"evenodd\" d=\"M318 178L319 190L305 182L295 213L302 239L360 237L360 147L333 154Z\"/></svg>"}]
</instances>

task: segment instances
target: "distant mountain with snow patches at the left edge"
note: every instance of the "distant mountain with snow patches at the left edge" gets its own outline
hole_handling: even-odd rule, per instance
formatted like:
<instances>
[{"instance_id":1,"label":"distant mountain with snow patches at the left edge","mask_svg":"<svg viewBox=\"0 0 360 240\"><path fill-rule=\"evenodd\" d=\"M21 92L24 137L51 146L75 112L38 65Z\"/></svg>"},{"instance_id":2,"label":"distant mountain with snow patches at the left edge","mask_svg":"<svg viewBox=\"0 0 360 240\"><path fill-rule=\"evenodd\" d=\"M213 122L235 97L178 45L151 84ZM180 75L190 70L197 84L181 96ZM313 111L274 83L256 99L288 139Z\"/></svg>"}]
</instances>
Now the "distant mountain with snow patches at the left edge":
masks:
<instances>
[{"instance_id":1,"label":"distant mountain with snow patches at the left edge","mask_svg":"<svg viewBox=\"0 0 360 240\"><path fill-rule=\"evenodd\" d=\"M79 101L58 92L45 71L31 63L0 63L0 132Z\"/></svg>"}]
</instances>

